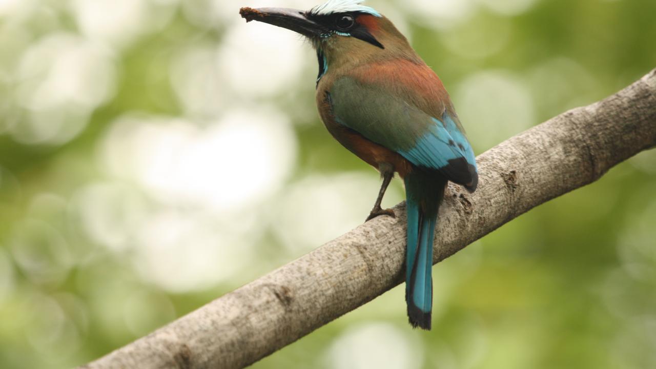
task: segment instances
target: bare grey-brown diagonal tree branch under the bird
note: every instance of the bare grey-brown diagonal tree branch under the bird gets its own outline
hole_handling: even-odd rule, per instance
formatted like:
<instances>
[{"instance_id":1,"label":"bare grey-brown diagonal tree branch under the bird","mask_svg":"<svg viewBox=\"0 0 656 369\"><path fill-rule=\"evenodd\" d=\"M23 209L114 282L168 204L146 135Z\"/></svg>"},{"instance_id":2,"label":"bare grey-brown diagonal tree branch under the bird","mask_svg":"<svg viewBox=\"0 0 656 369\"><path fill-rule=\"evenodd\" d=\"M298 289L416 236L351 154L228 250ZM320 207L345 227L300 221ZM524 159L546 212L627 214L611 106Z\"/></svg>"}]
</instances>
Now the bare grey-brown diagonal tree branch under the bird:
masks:
<instances>
[{"instance_id":1,"label":"bare grey-brown diagonal tree branch under the bird","mask_svg":"<svg viewBox=\"0 0 656 369\"><path fill-rule=\"evenodd\" d=\"M656 70L478 157L474 194L450 185L434 263L656 145ZM403 282L405 204L83 368L239 368Z\"/></svg>"}]
</instances>

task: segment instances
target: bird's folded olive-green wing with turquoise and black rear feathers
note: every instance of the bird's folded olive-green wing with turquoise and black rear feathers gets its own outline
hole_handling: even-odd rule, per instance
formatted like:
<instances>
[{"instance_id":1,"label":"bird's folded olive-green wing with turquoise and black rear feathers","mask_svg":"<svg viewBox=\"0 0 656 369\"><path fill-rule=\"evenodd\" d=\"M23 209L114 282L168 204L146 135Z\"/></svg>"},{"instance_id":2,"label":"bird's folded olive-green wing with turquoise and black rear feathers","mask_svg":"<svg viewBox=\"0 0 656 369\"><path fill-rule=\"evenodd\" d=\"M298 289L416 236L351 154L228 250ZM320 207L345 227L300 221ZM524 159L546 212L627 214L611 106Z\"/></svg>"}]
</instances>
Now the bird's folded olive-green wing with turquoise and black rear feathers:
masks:
<instances>
[{"instance_id":1,"label":"bird's folded olive-green wing with turquoise and black rear feathers","mask_svg":"<svg viewBox=\"0 0 656 369\"><path fill-rule=\"evenodd\" d=\"M401 154L418 167L436 169L449 181L476 189L474 151L457 118L445 111L431 117L416 106L348 77L330 92L335 120Z\"/></svg>"}]
</instances>

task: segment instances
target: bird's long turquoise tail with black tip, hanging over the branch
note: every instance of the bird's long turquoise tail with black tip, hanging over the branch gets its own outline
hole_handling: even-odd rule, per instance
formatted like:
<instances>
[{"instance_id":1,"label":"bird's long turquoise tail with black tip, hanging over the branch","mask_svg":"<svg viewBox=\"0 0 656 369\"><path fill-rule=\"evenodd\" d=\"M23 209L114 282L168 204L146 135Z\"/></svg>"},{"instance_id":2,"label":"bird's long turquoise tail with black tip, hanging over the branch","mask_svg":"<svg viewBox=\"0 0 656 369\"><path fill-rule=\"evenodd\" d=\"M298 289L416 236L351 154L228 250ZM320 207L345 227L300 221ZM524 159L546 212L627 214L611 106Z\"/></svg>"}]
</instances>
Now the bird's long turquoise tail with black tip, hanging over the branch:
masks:
<instances>
[{"instance_id":1,"label":"bird's long turquoise tail with black tip, hanging over the branch","mask_svg":"<svg viewBox=\"0 0 656 369\"><path fill-rule=\"evenodd\" d=\"M405 177L407 253L405 302L413 327L430 330L433 307L433 238L446 180L439 175L413 172Z\"/></svg>"}]
</instances>

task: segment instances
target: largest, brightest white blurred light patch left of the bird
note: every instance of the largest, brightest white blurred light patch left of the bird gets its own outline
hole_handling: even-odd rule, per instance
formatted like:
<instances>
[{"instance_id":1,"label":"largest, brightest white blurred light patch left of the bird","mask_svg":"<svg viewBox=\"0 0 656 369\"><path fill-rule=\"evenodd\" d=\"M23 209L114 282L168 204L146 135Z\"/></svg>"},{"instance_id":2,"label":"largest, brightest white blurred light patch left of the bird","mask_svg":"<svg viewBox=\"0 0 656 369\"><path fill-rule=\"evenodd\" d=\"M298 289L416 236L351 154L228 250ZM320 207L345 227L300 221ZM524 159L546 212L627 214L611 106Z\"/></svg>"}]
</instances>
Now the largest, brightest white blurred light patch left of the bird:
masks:
<instances>
[{"instance_id":1,"label":"largest, brightest white blurred light patch left of the bird","mask_svg":"<svg viewBox=\"0 0 656 369\"><path fill-rule=\"evenodd\" d=\"M102 156L111 173L136 180L159 202L224 212L276 192L296 150L286 116L236 109L207 127L182 118L120 118Z\"/></svg>"}]
</instances>

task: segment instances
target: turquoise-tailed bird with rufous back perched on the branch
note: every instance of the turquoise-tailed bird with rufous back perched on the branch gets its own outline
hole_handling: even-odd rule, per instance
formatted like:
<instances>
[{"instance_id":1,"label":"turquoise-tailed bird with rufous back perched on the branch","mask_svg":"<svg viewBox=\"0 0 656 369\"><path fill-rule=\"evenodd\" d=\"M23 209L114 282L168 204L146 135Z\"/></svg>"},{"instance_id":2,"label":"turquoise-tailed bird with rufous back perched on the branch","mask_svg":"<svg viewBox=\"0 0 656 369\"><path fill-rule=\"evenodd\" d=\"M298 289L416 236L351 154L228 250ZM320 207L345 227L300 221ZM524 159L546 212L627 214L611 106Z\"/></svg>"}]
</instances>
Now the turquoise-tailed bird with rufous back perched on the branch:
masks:
<instances>
[{"instance_id":1,"label":"turquoise-tailed bird with rufous back perched on the branch","mask_svg":"<svg viewBox=\"0 0 656 369\"><path fill-rule=\"evenodd\" d=\"M316 104L331 135L380 171L382 185L367 221L380 215L398 173L405 185L405 300L413 328L432 324L433 243L449 181L474 192L472 146L437 74L392 22L363 0L328 0L309 11L241 8L256 20L303 35L319 64Z\"/></svg>"}]
</instances>

